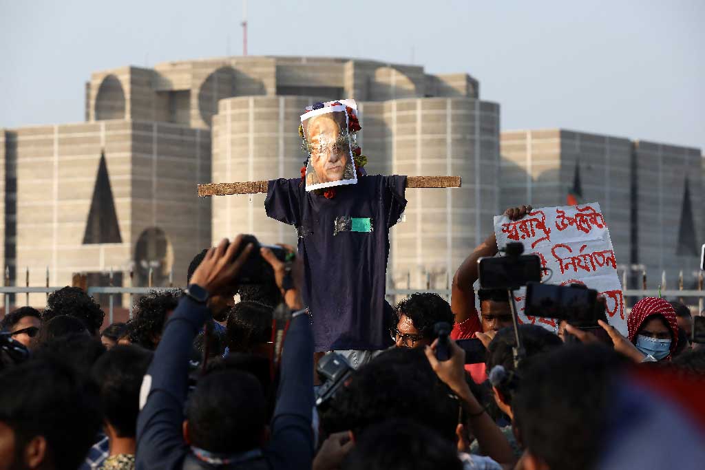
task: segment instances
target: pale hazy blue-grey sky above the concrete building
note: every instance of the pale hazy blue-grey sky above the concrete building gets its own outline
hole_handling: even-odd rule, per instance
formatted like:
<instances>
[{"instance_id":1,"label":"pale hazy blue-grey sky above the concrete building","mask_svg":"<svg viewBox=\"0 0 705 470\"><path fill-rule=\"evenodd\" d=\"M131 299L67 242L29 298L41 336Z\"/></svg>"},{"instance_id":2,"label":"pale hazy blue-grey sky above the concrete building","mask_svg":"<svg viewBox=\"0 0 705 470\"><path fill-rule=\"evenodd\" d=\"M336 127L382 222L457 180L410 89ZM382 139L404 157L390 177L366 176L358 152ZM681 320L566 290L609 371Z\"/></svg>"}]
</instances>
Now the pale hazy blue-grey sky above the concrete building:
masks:
<instances>
[{"instance_id":1,"label":"pale hazy blue-grey sky above the concrete building","mask_svg":"<svg viewBox=\"0 0 705 470\"><path fill-rule=\"evenodd\" d=\"M83 120L95 70L242 52L242 0L0 0L0 127ZM705 149L705 1L304 1L248 5L250 55L466 72L502 129Z\"/></svg>"}]
</instances>

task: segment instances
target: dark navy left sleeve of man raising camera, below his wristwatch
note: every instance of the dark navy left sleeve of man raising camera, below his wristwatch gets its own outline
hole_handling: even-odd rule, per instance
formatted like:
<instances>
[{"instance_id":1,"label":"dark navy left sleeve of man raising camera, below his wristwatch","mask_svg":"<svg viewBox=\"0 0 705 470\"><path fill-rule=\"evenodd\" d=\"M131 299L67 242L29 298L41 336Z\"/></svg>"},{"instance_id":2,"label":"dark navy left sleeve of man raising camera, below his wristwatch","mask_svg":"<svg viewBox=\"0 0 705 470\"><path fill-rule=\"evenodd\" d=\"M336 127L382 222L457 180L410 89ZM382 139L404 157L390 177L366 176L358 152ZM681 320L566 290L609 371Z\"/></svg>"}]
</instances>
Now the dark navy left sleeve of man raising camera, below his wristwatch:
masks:
<instances>
[{"instance_id":1,"label":"dark navy left sleeve of man raising camera, below his wristwatch","mask_svg":"<svg viewBox=\"0 0 705 470\"><path fill-rule=\"evenodd\" d=\"M183 297L164 326L142 383L147 398L137 416L137 470L180 469L188 453L181 432L188 359L190 345L207 316L207 307Z\"/></svg>"}]
</instances>

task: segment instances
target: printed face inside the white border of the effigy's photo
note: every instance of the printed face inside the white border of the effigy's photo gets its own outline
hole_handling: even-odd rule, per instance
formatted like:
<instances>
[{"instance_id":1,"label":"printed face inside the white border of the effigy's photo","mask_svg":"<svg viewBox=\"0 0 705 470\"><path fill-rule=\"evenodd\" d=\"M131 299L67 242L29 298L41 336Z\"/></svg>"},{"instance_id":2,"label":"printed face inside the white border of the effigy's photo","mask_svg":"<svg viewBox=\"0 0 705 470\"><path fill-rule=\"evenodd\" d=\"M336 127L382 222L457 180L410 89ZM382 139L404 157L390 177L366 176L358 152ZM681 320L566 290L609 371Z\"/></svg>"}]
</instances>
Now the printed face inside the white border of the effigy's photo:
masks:
<instances>
[{"instance_id":1,"label":"printed face inside the white border of the effigy's photo","mask_svg":"<svg viewBox=\"0 0 705 470\"><path fill-rule=\"evenodd\" d=\"M313 166L313 171L309 169L306 184L345 179L345 167L350 162L350 145L341 142L341 126L331 114L322 114L310 118L306 127L310 163Z\"/></svg>"}]
</instances>

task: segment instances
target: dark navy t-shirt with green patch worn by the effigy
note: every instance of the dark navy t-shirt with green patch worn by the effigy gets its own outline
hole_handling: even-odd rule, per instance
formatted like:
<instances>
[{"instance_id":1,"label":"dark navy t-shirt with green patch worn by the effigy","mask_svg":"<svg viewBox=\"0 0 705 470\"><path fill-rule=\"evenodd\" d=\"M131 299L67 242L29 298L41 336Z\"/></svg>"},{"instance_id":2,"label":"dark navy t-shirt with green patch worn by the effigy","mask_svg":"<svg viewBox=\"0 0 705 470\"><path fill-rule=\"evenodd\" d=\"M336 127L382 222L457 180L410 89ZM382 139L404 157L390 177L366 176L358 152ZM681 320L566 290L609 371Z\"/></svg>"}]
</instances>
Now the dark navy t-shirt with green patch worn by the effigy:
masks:
<instances>
[{"instance_id":1,"label":"dark navy t-shirt with green patch worn by the effigy","mask_svg":"<svg viewBox=\"0 0 705 470\"><path fill-rule=\"evenodd\" d=\"M389 229L406 206L406 176L363 176L335 189L326 199L298 178L271 180L266 214L298 230L315 350L384 349L391 345L384 299Z\"/></svg>"}]
</instances>

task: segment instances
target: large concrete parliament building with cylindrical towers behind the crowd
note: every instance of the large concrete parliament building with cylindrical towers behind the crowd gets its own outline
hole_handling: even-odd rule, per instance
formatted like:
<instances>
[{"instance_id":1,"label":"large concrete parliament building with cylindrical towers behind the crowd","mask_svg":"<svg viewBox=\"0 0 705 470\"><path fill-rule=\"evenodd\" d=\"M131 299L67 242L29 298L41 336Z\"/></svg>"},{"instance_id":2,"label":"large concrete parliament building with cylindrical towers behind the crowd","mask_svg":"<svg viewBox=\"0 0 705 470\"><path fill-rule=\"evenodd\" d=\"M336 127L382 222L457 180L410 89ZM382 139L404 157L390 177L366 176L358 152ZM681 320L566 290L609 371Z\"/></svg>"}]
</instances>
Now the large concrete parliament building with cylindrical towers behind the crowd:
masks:
<instances>
[{"instance_id":1,"label":"large concrete parliament building with cylindrical towers behind the crowd","mask_svg":"<svg viewBox=\"0 0 705 470\"><path fill-rule=\"evenodd\" d=\"M154 285L171 273L183 285L192 257L222 237L294 244L293 228L266 217L264 194L200 199L196 185L297 177L303 108L345 97L359 105L368 173L462 177L459 189L407 190L405 220L391 233L390 285L445 288L500 208L565 204L576 175L583 199L605 211L618 263L669 274L681 260L680 268L695 264L689 245L705 233L699 149L500 132L499 105L482 101L465 73L245 56L93 73L84 123L0 128L0 257L11 285L24 285L25 268L35 286L47 268L51 285L79 272L106 285L111 269L115 285L130 285L130 271L134 285L146 285L150 270Z\"/></svg>"}]
</instances>

